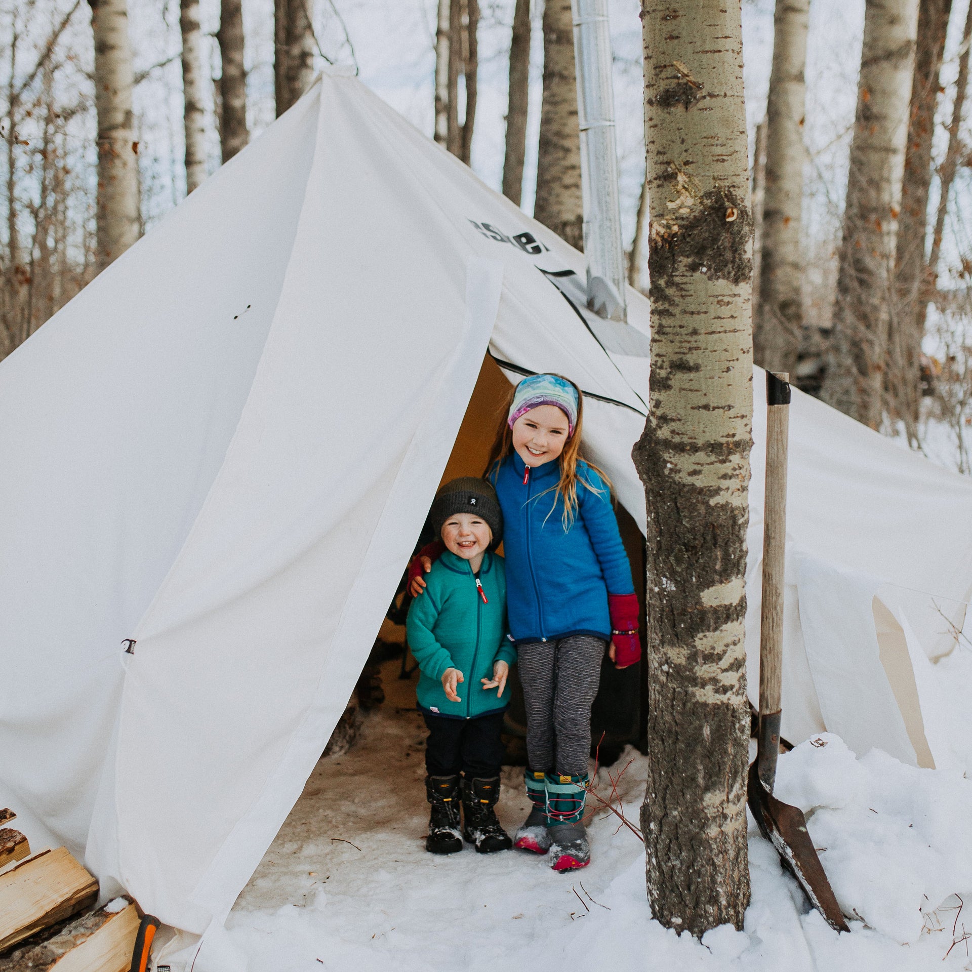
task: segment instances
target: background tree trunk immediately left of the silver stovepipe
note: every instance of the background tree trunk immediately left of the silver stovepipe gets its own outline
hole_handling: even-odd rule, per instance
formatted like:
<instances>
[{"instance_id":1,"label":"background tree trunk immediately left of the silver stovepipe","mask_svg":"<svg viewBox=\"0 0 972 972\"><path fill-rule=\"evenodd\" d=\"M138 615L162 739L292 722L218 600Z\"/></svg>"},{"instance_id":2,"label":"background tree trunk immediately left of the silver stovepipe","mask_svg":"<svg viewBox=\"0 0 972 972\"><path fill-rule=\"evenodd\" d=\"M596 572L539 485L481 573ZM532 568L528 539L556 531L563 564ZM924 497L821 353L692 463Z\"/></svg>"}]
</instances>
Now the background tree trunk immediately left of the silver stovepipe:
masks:
<instances>
[{"instance_id":1,"label":"background tree trunk immediately left of the silver stovepipe","mask_svg":"<svg viewBox=\"0 0 972 972\"><path fill-rule=\"evenodd\" d=\"M543 9L543 106L534 217L575 249L583 250L571 0L546 0Z\"/></svg>"}]
</instances>

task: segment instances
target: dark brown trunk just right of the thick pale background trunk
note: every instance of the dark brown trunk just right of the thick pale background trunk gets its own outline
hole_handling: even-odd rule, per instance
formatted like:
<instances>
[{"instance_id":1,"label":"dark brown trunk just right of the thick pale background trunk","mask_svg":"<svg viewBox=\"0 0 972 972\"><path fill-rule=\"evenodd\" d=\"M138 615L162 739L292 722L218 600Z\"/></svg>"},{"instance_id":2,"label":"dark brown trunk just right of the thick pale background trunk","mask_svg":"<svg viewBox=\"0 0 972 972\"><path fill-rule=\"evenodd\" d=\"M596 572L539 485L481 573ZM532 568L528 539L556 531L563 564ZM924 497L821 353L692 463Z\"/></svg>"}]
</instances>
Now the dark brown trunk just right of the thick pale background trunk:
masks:
<instances>
[{"instance_id":1,"label":"dark brown trunk just right of the thick pale background trunk","mask_svg":"<svg viewBox=\"0 0 972 972\"><path fill-rule=\"evenodd\" d=\"M912 77L911 111L901 182L901 212L894 258L897 299L890 320L890 392L895 417L904 421L908 439L918 443L921 338L930 298L925 277L924 243L928 235L931 143L935 133L939 75L949 29L952 0L920 0L918 45Z\"/></svg>"}]
</instances>

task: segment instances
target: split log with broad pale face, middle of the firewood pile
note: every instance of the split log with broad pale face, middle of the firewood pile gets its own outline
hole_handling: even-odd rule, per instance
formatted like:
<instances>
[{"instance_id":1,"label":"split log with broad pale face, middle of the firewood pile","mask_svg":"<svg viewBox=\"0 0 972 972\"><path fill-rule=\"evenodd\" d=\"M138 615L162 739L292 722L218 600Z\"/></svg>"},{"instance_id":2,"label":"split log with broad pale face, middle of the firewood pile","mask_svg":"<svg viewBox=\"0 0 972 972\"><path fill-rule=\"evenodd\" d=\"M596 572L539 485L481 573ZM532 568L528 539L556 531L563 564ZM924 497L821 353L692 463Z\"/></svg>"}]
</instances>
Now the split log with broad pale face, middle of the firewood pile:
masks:
<instances>
[{"instance_id":1,"label":"split log with broad pale face, middle of the firewood pile","mask_svg":"<svg viewBox=\"0 0 972 972\"><path fill-rule=\"evenodd\" d=\"M67 848L41 851L0 875L0 952L94 904L98 883Z\"/></svg>"}]
</instances>

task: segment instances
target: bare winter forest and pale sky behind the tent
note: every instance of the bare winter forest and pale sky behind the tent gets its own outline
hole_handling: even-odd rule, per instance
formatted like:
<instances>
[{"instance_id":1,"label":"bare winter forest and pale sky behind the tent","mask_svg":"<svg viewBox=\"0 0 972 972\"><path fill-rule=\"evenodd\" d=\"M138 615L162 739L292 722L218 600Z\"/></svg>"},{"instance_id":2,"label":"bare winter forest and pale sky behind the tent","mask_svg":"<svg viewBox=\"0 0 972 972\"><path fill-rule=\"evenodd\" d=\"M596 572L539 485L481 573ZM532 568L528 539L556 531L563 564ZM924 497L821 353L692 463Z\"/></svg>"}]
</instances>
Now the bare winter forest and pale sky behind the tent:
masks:
<instances>
[{"instance_id":1,"label":"bare winter forest and pale sky behind the tent","mask_svg":"<svg viewBox=\"0 0 972 972\"><path fill-rule=\"evenodd\" d=\"M612 0L629 279L647 288L642 25ZM0 356L352 65L581 244L570 0L0 0ZM972 471L972 15L746 0L757 363Z\"/></svg>"}]
</instances>

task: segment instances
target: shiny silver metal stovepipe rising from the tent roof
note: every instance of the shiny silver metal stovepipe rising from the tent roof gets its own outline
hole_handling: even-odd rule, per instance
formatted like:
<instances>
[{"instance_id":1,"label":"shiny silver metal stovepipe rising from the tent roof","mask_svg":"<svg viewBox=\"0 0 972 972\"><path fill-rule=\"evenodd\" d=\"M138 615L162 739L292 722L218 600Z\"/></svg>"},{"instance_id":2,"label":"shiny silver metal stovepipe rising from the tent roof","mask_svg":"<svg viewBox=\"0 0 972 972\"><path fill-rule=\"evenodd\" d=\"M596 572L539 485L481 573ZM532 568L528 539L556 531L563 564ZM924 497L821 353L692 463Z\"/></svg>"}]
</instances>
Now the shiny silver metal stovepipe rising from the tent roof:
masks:
<instances>
[{"instance_id":1,"label":"shiny silver metal stovepipe rising from the tent roof","mask_svg":"<svg viewBox=\"0 0 972 972\"><path fill-rule=\"evenodd\" d=\"M608 0L571 0L571 8L587 304L601 317L625 321L624 243L617 185Z\"/></svg>"}]
</instances>

